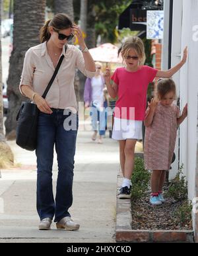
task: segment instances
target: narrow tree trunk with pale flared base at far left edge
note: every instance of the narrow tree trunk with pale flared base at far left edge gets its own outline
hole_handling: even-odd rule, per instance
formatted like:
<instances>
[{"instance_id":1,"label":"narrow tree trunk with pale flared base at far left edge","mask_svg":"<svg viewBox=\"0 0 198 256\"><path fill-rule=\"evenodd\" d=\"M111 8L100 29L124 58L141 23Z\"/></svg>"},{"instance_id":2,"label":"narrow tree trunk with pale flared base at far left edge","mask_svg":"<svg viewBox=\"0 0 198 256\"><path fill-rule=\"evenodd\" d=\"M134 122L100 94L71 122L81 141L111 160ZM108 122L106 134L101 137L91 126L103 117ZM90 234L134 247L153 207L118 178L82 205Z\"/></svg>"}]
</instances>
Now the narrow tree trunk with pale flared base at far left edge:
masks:
<instances>
[{"instance_id":1,"label":"narrow tree trunk with pale flared base at far left edge","mask_svg":"<svg viewBox=\"0 0 198 256\"><path fill-rule=\"evenodd\" d=\"M1 0L0 0L0 27L1 27ZM1 31L0 31L1 38ZM0 40L0 168L13 164L14 157L11 148L5 141L3 133L3 96L2 96L2 65L1 65L1 40Z\"/></svg>"}]
</instances>

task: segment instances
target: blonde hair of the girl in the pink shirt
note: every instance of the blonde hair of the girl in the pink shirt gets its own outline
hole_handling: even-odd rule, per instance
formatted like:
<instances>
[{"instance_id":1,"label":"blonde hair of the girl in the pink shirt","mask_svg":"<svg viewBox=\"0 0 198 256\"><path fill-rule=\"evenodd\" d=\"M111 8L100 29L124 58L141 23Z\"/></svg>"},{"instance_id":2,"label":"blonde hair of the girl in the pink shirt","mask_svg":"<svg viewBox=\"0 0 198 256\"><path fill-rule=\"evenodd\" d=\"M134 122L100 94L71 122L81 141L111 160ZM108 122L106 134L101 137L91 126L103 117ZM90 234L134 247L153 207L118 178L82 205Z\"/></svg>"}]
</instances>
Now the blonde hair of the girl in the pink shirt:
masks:
<instances>
[{"instance_id":1,"label":"blonde hair of the girl in the pink shirt","mask_svg":"<svg viewBox=\"0 0 198 256\"><path fill-rule=\"evenodd\" d=\"M119 52L121 52L123 60L127 58L129 50L131 50L131 48L133 48L133 50L135 50L135 52L137 53L137 56L139 58L139 65L144 65L146 60L145 46L141 38L137 36L132 36L125 41L125 43L119 50Z\"/></svg>"}]
</instances>

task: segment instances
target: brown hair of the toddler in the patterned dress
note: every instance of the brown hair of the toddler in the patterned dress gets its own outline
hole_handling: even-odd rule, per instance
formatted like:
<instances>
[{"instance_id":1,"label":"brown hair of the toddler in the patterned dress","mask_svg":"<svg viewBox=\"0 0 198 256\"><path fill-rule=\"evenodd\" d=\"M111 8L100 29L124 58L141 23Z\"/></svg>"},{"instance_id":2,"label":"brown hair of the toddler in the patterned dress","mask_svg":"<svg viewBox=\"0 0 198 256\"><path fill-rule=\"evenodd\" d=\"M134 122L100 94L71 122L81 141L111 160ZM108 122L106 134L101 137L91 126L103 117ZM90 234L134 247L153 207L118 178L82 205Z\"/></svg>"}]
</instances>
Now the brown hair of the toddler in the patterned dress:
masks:
<instances>
[{"instance_id":1,"label":"brown hair of the toddler in the patterned dress","mask_svg":"<svg viewBox=\"0 0 198 256\"><path fill-rule=\"evenodd\" d=\"M167 93L170 93L171 91L174 93L176 99L176 84L172 79L166 78L158 80L156 99L160 101Z\"/></svg>"}]
</instances>

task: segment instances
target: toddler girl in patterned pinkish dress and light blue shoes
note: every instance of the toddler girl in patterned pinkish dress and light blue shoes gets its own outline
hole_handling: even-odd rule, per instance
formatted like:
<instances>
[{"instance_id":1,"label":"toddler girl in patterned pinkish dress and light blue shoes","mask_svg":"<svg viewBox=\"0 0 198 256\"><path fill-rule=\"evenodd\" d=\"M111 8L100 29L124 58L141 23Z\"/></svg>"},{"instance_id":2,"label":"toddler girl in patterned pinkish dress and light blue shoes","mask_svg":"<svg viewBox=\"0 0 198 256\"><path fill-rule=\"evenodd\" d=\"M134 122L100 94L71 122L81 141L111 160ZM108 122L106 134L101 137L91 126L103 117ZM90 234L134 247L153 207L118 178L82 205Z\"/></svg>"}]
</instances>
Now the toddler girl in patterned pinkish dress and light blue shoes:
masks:
<instances>
[{"instance_id":1,"label":"toddler girl in patterned pinkish dress and light blue shoes","mask_svg":"<svg viewBox=\"0 0 198 256\"><path fill-rule=\"evenodd\" d=\"M172 79L160 79L156 99L149 103L145 118L145 168L152 170L150 203L162 204L162 187L170 169L177 128L187 116L187 105L180 116L174 105L176 85Z\"/></svg>"}]
</instances>

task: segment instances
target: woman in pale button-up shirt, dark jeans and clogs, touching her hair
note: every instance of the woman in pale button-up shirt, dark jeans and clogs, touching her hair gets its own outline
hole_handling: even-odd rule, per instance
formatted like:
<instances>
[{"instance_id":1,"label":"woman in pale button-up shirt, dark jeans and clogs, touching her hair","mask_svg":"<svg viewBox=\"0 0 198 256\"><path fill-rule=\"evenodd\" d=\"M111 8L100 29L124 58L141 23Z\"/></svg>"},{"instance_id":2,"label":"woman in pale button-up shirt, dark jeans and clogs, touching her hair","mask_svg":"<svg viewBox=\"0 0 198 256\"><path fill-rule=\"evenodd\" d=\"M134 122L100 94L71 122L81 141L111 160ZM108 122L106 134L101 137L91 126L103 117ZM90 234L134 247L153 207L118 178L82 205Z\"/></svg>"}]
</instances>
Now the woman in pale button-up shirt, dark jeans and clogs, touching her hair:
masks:
<instances>
[{"instance_id":1,"label":"woman in pale button-up shirt, dark jeans and clogs, touching her hair","mask_svg":"<svg viewBox=\"0 0 198 256\"><path fill-rule=\"evenodd\" d=\"M74 35L79 40L81 50L67 44ZM42 44L26 52L20 81L22 95L34 101L40 110L36 148L39 229L49 230L55 215L54 222L57 222L58 229L79 230L79 224L71 220L68 212L73 202L73 169L78 128L75 68L78 67L84 75L93 77L95 64L81 30L65 14L57 14L47 21L40 31L40 39ZM43 99L42 95L62 54L65 58L46 99ZM67 114L64 110L67 110ZM76 123L76 129L65 128L68 119ZM54 144L59 167L55 200L52 190Z\"/></svg>"}]
</instances>

